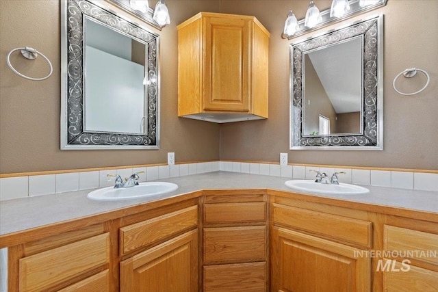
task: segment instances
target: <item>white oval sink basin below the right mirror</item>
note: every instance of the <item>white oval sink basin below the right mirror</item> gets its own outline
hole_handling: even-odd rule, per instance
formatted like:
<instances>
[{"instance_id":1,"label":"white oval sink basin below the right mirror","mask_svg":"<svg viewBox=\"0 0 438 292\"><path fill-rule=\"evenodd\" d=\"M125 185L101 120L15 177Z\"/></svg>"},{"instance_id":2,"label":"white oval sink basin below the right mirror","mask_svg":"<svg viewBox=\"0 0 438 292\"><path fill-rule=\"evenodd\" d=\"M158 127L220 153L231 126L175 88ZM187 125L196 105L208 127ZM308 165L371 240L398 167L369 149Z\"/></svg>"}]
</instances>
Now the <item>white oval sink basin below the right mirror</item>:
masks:
<instances>
[{"instance_id":1,"label":"white oval sink basin below the right mirror","mask_svg":"<svg viewBox=\"0 0 438 292\"><path fill-rule=\"evenodd\" d=\"M359 195L368 194L370 192L370 190L366 187L350 185L348 183L330 185L324 183L315 183L315 181L294 180L285 182L285 185L298 191L310 191L318 194Z\"/></svg>"}]
</instances>

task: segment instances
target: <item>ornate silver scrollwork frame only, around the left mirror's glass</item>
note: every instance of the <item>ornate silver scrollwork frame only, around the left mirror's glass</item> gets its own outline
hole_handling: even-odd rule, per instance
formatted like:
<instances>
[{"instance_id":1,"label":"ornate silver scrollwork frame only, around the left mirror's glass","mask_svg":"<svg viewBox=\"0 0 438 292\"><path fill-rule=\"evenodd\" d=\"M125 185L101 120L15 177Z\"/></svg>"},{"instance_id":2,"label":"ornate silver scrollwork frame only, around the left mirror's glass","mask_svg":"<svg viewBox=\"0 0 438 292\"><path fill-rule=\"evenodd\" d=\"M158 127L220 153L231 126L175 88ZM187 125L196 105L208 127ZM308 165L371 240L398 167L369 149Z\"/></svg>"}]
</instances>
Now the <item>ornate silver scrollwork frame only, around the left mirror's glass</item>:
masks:
<instances>
[{"instance_id":1,"label":"ornate silver scrollwork frame only, around the left mirror's glass","mask_svg":"<svg viewBox=\"0 0 438 292\"><path fill-rule=\"evenodd\" d=\"M92 1L61 1L61 149L157 149L159 148L159 36L99 7ZM85 23L90 18L145 45L144 76L146 131L143 133L118 133L86 131L85 105ZM123 104L123 96L120 96Z\"/></svg>"}]
</instances>

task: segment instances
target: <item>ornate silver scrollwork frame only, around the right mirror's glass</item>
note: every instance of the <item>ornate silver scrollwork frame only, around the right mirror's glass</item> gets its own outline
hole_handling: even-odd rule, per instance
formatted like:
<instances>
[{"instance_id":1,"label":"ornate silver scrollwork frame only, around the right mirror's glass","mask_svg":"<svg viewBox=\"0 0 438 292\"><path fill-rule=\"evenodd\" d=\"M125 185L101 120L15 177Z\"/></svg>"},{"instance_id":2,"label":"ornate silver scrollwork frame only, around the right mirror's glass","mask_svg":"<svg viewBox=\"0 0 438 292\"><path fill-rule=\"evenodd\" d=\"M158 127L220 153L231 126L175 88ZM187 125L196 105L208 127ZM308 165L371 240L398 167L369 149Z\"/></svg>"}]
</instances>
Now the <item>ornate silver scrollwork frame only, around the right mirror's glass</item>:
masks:
<instances>
[{"instance_id":1,"label":"ornate silver scrollwork frame only, around the right mirror's glass","mask_svg":"<svg viewBox=\"0 0 438 292\"><path fill-rule=\"evenodd\" d=\"M303 135L303 88L305 53L363 38L361 133ZM368 18L290 46L290 149L383 150L383 15Z\"/></svg>"}]
</instances>

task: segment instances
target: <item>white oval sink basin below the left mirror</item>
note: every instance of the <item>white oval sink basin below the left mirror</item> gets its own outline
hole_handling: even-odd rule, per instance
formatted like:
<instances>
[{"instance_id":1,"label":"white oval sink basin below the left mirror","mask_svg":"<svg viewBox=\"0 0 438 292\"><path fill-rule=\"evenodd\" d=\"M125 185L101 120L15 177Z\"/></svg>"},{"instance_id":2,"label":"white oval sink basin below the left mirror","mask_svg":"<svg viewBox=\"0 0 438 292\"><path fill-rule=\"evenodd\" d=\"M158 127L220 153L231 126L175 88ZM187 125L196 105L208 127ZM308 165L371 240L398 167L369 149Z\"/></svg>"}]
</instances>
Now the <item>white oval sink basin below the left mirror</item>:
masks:
<instances>
[{"instance_id":1,"label":"white oval sink basin below the left mirror","mask_svg":"<svg viewBox=\"0 0 438 292\"><path fill-rule=\"evenodd\" d=\"M99 201L137 199L170 193L170 191L175 191L175 189L178 189L178 185L175 185L175 183L139 183L134 187L121 187L120 189L114 189L114 187L96 189L90 191L87 198Z\"/></svg>"}]
</instances>

